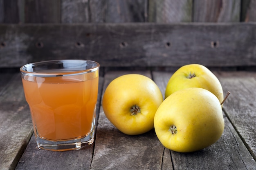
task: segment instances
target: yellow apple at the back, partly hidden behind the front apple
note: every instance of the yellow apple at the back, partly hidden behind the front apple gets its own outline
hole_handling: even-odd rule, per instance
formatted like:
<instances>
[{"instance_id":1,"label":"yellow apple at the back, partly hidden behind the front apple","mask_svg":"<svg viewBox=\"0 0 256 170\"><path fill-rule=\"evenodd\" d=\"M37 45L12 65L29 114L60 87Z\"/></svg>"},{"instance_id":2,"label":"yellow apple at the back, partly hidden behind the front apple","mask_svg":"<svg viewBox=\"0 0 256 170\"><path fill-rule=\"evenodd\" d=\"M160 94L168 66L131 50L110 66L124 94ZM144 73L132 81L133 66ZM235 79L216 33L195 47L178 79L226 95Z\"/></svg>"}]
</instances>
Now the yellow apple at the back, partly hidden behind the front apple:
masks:
<instances>
[{"instance_id":1,"label":"yellow apple at the back, partly hidden behind the front apple","mask_svg":"<svg viewBox=\"0 0 256 170\"><path fill-rule=\"evenodd\" d=\"M199 87L212 92L223 101L223 90L218 78L205 66L199 64L184 65L177 69L167 83L165 98L178 90Z\"/></svg>"}]
</instances>

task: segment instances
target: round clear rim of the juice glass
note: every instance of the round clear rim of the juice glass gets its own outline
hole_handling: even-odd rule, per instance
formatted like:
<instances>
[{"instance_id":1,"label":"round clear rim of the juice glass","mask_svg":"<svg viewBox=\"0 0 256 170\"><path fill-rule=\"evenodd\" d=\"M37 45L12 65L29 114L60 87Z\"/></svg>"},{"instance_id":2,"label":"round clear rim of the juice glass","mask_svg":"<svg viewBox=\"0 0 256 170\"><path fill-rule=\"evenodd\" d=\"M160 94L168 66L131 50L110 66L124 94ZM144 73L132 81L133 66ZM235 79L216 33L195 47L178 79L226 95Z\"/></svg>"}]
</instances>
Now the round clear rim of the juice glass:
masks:
<instances>
[{"instance_id":1,"label":"round clear rim of the juice glass","mask_svg":"<svg viewBox=\"0 0 256 170\"><path fill-rule=\"evenodd\" d=\"M65 62L65 61L84 61L84 62L90 62L96 64L95 67L92 67L90 69L82 69L77 71L71 71L71 72L62 72L62 73L38 73L38 72L29 72L24 70L24 68L32 67L33 65L42 65L47 63L57 63L57 62ZM28 63L20 67L20 73L24 74L26 76L35 76L35 77L56 77L56 76L74 76L79 74L85 74L90 72L95 72L99 69L100 64L93 60L82 60L82 59L63 59L63 60L45 60L45 61L38 61L34 63Z\"/></svg>"}]
</instances>

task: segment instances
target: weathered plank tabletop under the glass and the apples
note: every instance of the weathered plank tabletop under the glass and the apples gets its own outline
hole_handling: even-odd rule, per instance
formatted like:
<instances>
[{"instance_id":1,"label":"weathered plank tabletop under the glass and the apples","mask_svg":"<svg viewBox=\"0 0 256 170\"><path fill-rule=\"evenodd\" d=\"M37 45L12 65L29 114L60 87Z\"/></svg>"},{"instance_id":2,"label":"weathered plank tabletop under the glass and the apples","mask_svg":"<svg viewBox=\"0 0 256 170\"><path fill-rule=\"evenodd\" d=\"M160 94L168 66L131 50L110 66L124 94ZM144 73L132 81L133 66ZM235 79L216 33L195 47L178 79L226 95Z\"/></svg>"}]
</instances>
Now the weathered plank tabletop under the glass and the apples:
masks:
<instances>
[{"instance_id":1,"label":"weathered plank tabletop under the glass and the apples","mask_svg":"<svg viewBox=\"0 0 256 170\"><path fill-rule=\"evenodd\" d=\"M95 142L81 150L38 150L19 73L0 73L0 169L16 170L256 170L256 72L214 72L224 94L221 138L191 153L164 148L154 130L137 136L118 131L104 115L101 98L117 76L152 78L164 94L172 72L112 71L100 77Z\"/></svg>"}]
</instances>

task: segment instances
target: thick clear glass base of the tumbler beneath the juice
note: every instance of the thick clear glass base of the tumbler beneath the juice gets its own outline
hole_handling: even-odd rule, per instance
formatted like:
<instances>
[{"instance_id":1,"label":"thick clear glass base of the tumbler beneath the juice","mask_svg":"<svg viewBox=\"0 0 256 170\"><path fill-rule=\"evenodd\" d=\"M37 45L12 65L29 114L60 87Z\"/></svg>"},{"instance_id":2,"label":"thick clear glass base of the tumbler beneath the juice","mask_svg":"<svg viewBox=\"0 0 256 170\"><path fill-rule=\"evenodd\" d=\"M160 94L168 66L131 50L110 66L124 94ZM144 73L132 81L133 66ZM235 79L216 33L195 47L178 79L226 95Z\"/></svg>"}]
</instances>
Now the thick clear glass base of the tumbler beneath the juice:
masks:
<instances>
[{"instance_id":1,"label":"thick clear glass base of the tumbler beneath the juice","mask_svg":"<svg viewBox=\"0 0 256 170\"><path fill-rule=\"evenodd\" d=\"M94 142L94 129L87 136L72 139L69 141L49 141L36 136L36 143L39 149L51 151L79 150Z\"/></svg>"}]
</instances>

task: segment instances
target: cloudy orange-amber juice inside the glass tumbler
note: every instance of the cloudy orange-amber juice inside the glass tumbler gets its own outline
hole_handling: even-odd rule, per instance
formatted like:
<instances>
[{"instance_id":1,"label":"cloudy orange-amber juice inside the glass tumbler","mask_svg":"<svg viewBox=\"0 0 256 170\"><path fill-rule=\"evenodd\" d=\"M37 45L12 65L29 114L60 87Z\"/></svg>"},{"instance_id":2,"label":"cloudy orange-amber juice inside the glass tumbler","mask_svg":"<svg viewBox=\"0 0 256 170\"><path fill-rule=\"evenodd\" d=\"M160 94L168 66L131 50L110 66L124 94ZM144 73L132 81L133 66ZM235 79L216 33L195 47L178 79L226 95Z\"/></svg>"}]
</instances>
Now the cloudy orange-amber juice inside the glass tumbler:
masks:
<instances>
[{"instance_id":1,"label":"cloudy orange-amber juice inside the glass tumbler","mask_svg":"<svg viewBox=\"0 0 256 170\"><path fill-rule=\"evenodd\" d=\"M88 135L95 118L98 80L98 76L90 74L83 78L36 77L32 81L22 78L36 135L52 141Z\"/></svg>"}]
</instances>

